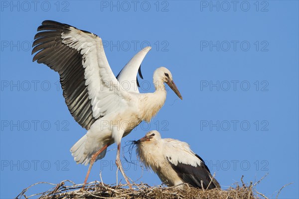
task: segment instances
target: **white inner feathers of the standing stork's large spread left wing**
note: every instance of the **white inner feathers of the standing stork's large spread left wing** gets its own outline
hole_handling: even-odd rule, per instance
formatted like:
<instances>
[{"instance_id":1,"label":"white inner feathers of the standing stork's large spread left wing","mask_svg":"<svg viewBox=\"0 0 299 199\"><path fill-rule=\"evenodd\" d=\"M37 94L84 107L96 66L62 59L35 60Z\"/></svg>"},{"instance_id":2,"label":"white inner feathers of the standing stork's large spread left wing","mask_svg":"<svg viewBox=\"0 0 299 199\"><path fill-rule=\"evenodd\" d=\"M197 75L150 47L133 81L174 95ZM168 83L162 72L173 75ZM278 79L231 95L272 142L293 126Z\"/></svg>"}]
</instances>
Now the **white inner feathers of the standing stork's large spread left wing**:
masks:
<instances>
[{"instance_id":1,"label":"white inner feathers of the standing stork's large spread left wing","mask_svg":"<svg viewBox=\"0 0 299 199\"><path fill-rule=\"evenodd\" d=\"M81 50L85 68L85 85L88 86L88 98L91 100L93 116L99 118L111 112L119 111L127 105L127 92L120 89L106 58L102 39L93 33L84 33L74 27L63 32L62 42L67 46Z\"/></svg>"}]
</instances>

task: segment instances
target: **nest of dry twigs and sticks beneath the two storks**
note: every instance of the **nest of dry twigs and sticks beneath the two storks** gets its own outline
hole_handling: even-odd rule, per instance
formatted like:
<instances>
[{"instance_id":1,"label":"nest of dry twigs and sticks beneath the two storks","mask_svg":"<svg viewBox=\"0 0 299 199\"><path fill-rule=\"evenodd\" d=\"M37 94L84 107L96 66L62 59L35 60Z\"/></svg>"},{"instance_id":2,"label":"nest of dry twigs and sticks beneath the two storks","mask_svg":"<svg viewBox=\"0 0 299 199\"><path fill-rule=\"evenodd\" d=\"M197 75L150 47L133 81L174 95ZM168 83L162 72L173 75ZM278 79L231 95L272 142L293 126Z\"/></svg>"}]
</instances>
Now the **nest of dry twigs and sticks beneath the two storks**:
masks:
<instances>
[{"instance_id":1,"label":"nest of dry twigs and sticks beneath the two storks","mask_svg":"<svg viewBox=\"0 0 299 199\"><path fill-rule=\"evenodd\" d=\"M227 190L212 189L203 190L190 187L180 190L175 187L154 186L147 184L133 184L133 189L128 189L128 185L111 186L102 182L91 182L85 187L83 184L76 185L72 181L66 180L59 184L36 183L24 189L16 199L267 199L263 194L256 191L255 187L260 183L249 186L243 182L243 176L240 183L236 183ZM26 196L26 192L33 186L48 184L52 189Z\"/></svg>"}]
</instances>

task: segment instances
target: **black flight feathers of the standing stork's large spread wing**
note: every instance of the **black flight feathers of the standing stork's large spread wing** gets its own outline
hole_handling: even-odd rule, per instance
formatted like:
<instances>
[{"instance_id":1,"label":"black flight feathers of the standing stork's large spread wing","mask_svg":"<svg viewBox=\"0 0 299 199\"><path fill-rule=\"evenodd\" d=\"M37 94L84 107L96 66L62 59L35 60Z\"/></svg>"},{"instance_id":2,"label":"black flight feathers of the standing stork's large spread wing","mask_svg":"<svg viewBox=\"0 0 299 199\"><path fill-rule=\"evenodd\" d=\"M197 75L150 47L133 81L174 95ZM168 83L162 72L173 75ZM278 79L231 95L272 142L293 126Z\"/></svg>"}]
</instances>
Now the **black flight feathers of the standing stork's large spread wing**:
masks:
<instances>
[{"instance_id":1,"label":"black flight feathers of the standing stork's large spread wing","mask_svg":"<svg viewBox=\"0 0 299 199\"><path fill-rule=\"evenodd\" d=\"M45 20L37 28L33 42L33 62L43 63L60 75L63 97L75 120L87 130L96 121L92 116L91 100L85 85L84 68L80 51L62 43L62 32L69 32L71 26L56 21ZM75 28L75 27L74 27ZM82 31L82 30L81 30ZM90 33L83 31L84 33Z\"/></svg>"}]
</instances>

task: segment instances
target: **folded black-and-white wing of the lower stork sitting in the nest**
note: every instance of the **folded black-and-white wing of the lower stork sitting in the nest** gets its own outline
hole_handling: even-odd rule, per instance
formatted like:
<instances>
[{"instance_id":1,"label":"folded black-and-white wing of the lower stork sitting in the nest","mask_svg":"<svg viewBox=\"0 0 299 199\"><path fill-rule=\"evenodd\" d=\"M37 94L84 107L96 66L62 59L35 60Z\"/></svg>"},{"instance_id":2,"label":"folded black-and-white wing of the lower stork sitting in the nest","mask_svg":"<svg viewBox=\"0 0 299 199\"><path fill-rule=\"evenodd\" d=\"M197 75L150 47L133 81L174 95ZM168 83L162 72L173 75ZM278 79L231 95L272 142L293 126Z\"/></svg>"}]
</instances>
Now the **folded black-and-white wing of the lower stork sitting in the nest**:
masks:
<instances>
[{"instance_id":1,"label":"folded black-and-white wing of the lower stork sitting in the nest","mask_svg":"<svg viewBox=\"0 0 299 199\"><path fill-rule=\"evenodd\" d=\"M170 142L171 140L169 139ZM170 150L164 152L165 159L168 160L172 169L185 183L201 188L202 181L203 188L206 189L212 181L208 189L220 188L217 180L212 178L204 161L191 151L187 143L175 140L169 146L171 146L172 149L170 150L172 152Z\"/></svg>"}]
</instances>

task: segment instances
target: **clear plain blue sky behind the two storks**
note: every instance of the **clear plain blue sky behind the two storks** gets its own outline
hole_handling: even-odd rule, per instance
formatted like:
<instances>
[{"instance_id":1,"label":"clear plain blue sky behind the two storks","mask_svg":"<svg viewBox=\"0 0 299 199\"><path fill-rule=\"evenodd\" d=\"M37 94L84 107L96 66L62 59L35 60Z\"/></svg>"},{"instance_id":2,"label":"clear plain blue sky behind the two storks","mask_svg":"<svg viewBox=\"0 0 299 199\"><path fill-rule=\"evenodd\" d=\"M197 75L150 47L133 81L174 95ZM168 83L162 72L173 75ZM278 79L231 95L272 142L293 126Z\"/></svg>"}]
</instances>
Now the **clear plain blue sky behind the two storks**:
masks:
<instances>
[{"instance_id":1,"label":"clear plain blue sky behind the two storks","mask_svg":"<svg viewBox=\"0 0 299 199\"><path fill-rule=\"evenodd\" d=\"M242 175L250 183L269 173L260 193L275 198L293 183L280 198L299 198L298 1L34 2L0 1L1 199L37 182L83 183L88 169L69 152L86 130L69 113L58 74L32 63L30 46L46 19L99 35L115 75L149 44L143 93L153 92L156 68L171 71L183 100L169 91L157 116L123 146L155 129L188 142L223 189ZM104 183L116 183L115 149L95 163L89 181L99 181L102 170ZM135 152L131 161L124 162L130 178L160 184Z\"/></svg>"}]
</instances>

